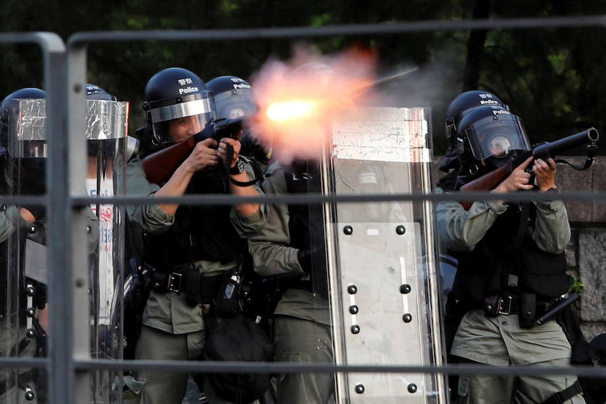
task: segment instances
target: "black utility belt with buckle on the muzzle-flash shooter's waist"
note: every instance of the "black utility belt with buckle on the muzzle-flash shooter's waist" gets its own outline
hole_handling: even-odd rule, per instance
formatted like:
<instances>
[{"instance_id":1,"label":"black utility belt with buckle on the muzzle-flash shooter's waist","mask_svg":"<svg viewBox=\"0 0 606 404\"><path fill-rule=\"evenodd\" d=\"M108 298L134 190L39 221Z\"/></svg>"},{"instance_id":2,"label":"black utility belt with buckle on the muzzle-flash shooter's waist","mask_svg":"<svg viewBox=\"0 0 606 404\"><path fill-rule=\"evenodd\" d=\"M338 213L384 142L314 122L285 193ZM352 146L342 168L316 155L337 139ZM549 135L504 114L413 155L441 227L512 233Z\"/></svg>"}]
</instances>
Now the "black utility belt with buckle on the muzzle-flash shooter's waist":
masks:
<instances>
[{"instance_id":1,"label":"black utility belt with buckle on the muzzle-flash shooter's waist","mask_svg":"<svg viewBox=\"0 0 606 404\"><path fill-rule=\"evenodd\" d=\"M160 271L148 266L153 289L160 293L185 293L194 304L212 304L217 299L223 275L202 276L193 266L175 267L172 271Z\"/></svg>"}]
</instances>

